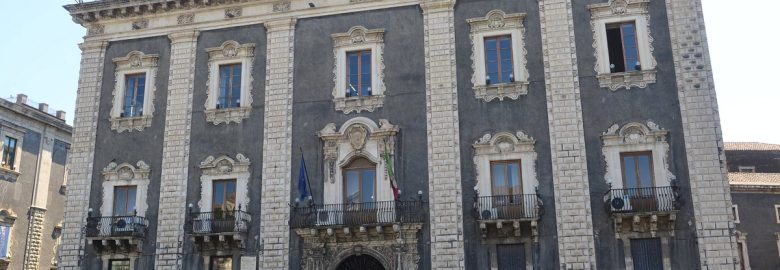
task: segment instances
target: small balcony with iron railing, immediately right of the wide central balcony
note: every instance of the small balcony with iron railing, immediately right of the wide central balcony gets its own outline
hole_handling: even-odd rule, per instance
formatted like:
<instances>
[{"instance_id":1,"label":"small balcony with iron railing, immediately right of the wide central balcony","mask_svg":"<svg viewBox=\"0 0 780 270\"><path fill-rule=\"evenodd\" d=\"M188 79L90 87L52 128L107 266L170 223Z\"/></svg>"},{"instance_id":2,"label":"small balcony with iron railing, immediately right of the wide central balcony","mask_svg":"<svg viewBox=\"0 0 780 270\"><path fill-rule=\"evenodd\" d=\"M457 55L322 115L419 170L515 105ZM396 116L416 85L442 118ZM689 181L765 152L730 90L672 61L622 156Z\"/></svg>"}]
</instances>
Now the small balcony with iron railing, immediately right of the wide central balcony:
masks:
<instances>
[{"instance_id":1,"label":"small balcony with iron railing, immediately right of the wide central balcony","mask_svg":"<svg viewBox=\"0 0 780 270\"><path fill-rule=\"evenodd\" d=\"M483 238L507 235L520 237L526 231L537 239L537 225L543 213L542 201L536 194L474 198L474 216L479 222Z\"/></svg>"}]
</instances>

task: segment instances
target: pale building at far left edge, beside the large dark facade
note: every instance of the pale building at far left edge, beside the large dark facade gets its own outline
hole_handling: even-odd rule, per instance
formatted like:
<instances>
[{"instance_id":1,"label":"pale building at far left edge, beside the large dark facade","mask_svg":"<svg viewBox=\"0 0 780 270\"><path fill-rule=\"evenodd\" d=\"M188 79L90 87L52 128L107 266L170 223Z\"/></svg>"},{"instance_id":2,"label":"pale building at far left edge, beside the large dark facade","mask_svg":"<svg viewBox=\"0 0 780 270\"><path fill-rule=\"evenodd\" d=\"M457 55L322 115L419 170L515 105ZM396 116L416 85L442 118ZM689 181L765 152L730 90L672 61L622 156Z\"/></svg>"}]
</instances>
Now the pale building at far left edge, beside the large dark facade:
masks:
<instances>
[{"instance_id":1,"label":"pale building at far left edge, beside the large dark facade","mask_svg":"<svg viewBox=\"0 0 780 270\"><path fill-rule=\"evenodd\" d=\"M0 99L0 269L54 269L72 127L26 95Z\"/></svg>"}]
</instances>

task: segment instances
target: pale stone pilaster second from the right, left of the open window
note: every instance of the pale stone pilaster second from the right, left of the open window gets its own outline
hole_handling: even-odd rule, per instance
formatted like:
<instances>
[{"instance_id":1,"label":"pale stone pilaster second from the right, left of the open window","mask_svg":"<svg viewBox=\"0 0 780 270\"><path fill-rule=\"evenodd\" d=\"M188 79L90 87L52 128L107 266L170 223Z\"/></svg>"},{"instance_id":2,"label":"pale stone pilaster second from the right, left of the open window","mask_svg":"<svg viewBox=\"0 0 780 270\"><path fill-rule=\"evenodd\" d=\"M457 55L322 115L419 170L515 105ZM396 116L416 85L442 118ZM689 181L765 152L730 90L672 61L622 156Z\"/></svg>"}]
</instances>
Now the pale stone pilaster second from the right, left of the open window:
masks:
<instances>
[{"instance_id":1,"label":"pale stone pilaster second from the right, left of the open window","mask_svg":"<svg viewBox=\"0 0 780 270\"><path fill-rule=\"evenodd\" d=\"M560 269L596 267L571 0L539 1Z\"/></svg>"}]
</instances>

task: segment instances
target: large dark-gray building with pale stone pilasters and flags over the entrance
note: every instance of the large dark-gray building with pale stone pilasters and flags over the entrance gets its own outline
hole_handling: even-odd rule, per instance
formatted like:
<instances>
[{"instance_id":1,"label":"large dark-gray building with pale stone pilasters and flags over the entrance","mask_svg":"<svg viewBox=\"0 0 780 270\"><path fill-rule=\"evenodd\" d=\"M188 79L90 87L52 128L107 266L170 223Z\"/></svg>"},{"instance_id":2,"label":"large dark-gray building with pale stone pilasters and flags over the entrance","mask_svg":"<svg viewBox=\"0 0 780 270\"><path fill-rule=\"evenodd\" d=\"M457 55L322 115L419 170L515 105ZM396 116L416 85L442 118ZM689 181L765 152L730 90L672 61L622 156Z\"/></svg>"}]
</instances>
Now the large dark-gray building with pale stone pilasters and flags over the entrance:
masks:
<instances>
[{"instance_id":1,"label":"large dark-gray building with pale stone pilasters and flags over the entrance","mask_svg":"<svg viewBox=\"0 0 780 270\"><path fill-rule=\"evenodd\" d=\"M64 269L739 265L699 0L65 8Z\"/></svg>"}]
</instances>

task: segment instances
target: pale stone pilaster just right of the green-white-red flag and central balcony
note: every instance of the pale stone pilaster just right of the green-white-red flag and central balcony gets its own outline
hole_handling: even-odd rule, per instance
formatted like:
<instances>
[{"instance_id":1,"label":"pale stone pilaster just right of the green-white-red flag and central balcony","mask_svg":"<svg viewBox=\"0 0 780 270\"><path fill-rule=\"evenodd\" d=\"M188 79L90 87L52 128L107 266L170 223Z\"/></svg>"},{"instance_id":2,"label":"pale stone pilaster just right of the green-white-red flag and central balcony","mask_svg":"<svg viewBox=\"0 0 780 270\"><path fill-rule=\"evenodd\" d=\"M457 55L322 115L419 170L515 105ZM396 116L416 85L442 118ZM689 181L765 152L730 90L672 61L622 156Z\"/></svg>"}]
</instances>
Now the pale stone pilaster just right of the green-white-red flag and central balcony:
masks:
<instances>
[{"instance_id":1,"label":"pale stone pilaster just right of the green-white-red flag and central balcony","mask_svg":"<svg viewBox=\"0 0 780 270\"><path fill-rule=\"evenodd\" d=\"M455 0L422 2L428 128L431 268L463 269Z\"/></svg>"}]
</instances>

